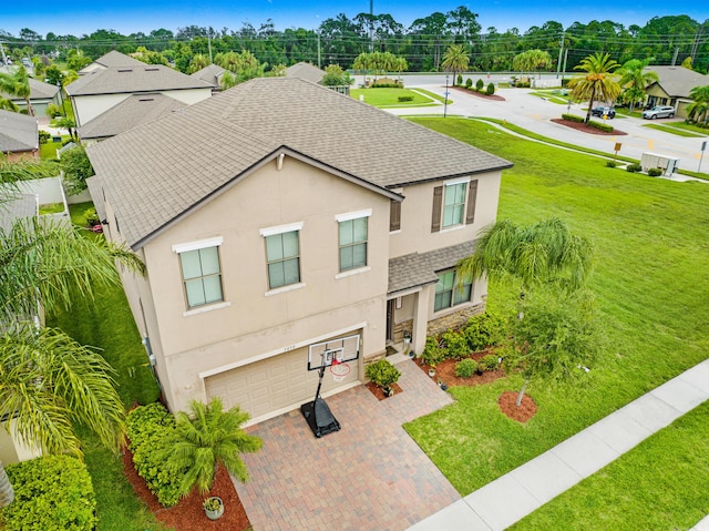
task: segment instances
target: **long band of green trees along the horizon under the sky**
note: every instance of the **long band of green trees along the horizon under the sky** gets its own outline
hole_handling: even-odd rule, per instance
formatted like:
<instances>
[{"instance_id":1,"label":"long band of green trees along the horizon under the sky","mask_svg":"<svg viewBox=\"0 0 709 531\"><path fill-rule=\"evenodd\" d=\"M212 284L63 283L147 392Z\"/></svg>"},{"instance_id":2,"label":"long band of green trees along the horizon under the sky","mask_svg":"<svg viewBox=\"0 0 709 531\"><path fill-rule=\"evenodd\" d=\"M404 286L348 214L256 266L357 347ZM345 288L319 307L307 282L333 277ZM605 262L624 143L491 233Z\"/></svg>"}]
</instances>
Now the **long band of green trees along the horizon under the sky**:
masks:
<instances>
[{"instance_id":1,"label":"long band of green trees along the horizon under the sky","mask_svg":"<svg viewBox=\"0 0 709 531\"><path fill-rule=\"evenodd\" d=\"M470 54L472 71L511 71L513 59L527 50L549 53L554 61L548 70L564 64L572 70L597 52L608 53L619 63L651 57L656 64L680 64L690 58L696 70L707 72L709 68L709 19L698 22L686 14L655 17L645 25L627 28L612 20L574 22L567 28L547 21L524 32L516 28L501 32L494 27L483 31L477 13L464 6L417 19L408 28L391 14L360 13L350 19L340 13L323 20L317 29L277 31L270 19L258 28L249 22L237 30L187 25L176 32L161 28L129 35L105 29L81 37L53 32L41 35L23 28L18 35L0 30L0 42L16 60L55 54L61 61L70 50L92 60L111 50L134 53L144 48L156 52L155 61L164 60L183 72L197 54L208 58L242 51L249 51L269 68L306 61L342 69L351 68L363 52L390 52L404 58L409 71L439 71L451 44L462 45Z\"/></svg>"}]
</instances>

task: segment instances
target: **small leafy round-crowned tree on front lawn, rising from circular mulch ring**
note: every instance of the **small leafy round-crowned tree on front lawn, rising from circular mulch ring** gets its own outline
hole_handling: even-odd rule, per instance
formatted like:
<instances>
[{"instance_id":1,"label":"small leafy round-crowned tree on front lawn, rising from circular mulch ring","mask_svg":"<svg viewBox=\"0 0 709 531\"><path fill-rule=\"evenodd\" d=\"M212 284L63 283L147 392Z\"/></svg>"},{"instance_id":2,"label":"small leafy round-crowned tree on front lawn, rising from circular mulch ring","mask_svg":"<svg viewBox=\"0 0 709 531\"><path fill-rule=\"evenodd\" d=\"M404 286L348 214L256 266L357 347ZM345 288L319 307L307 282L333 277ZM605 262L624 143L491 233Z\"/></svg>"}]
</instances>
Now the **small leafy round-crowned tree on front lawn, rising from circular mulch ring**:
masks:
<instances>
[{"instance_id":1,"label":"small leafy round-crowned tree on front lawn, rising from circular mulch ring","mask_svg":"<svg viewBox=\"0 0 709 531\"><path fill-rule=\"evenodd\" d=\"M517 406L530 381L561 382L585 375L602 345L588 290L538 289L525 297L522 307L524 318L512 323L504 350L505 368L524 377Z\"/></svg>"}]
</instances>

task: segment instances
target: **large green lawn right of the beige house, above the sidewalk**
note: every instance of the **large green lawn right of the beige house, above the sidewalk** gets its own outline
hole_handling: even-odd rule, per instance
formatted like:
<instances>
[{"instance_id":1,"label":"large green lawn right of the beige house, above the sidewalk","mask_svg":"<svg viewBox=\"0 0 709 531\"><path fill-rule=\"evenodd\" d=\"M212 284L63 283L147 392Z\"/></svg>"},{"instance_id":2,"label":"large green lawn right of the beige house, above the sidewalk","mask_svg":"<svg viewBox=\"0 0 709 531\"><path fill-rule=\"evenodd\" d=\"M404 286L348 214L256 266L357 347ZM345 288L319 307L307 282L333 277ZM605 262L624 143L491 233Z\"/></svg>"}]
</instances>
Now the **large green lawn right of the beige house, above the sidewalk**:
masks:
<instances>
[{"instance_id":1,"label":"large green lawn right of the beige house, above the sidewalk","mask_svg":"<svg viewBox=\"0 0 709 531\"><path fill-rule=\"evenodd\" d=\"M709 186L608 169L603 160L471 120L413 121L515 163L503 174L500 218L531 223L557 215L594 242L590 288L610 345L582 385L531 386L540 410L526 425L497 409L502 391L520 389L511 378L453 388L454 405L405 426L462 494L707 358ZM493 284L489 304L510 308L514 295Z\"/></svg>"}]
</instances>

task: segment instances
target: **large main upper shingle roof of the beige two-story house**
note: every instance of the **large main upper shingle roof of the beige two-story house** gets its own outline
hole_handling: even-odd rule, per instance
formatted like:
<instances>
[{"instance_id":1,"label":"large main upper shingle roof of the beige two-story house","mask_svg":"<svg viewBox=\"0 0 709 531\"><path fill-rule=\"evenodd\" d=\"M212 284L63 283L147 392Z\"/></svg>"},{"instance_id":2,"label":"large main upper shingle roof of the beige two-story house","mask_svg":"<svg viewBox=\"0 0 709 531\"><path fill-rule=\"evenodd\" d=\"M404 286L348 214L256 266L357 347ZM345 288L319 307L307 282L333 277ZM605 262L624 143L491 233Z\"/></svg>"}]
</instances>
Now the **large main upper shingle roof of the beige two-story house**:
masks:
<instances>
[{"instance_id":1,"label":"large main upper shingle roof of the beige two-story house","mask_svg":"<svg viewBox=\"0 0 709 531\"><path fill-rule=\"evenodd\" d=\"M314 83L264 78L88 149L129 245L287 146L379 188L510 167Z\"/></svg>"}]
</instances>

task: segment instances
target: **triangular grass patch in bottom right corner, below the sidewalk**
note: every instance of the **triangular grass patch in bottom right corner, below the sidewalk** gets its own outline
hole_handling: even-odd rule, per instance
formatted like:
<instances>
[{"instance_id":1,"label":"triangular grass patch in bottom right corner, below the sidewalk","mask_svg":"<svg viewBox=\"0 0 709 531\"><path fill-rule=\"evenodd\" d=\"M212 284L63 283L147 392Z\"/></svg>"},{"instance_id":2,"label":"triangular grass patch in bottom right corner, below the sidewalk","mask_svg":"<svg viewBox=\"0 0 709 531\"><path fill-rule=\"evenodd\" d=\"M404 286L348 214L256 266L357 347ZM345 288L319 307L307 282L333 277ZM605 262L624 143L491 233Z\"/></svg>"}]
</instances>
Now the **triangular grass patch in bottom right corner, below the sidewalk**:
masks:
<instances>
[{"instance_id":1,"label":"triangular grass patch in bottom right corner, below the sidewalk","mask_svg":"<svg viewBox=\"0 0 709 531\"><path fill-rule=\"evenodd\" d=\"M709 402L512 525L689 529L709 513Z\"/></svg>"}]
</instances>

